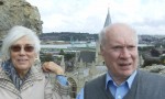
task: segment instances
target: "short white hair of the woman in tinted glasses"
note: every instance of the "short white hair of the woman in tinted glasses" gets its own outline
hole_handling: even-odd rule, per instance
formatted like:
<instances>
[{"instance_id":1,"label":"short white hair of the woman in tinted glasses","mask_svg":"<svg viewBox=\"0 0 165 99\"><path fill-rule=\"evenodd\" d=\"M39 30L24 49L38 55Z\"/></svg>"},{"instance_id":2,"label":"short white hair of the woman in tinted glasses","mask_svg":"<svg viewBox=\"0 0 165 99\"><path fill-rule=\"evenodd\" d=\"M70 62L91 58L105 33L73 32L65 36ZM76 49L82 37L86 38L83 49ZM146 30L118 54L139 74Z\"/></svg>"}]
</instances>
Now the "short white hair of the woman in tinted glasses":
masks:
<instances>
[{"instance_id":1,"label":"short white hair of the woman in tinted glasses","mask_svg":"<svg viewBox=\"0 0 165 99\"><path fill-rule=\"evenodd\" d=\"M13 45L18 40L20 40L23 36L29 37L34 43L34 51L37 54L37 56L40 55L41 45L40 38L37 37L36 33L22 25L15 25L9 31L9 33L2 42L1 53L3 58L10 59L11 45Z\"/></svg>"}]
</instances>

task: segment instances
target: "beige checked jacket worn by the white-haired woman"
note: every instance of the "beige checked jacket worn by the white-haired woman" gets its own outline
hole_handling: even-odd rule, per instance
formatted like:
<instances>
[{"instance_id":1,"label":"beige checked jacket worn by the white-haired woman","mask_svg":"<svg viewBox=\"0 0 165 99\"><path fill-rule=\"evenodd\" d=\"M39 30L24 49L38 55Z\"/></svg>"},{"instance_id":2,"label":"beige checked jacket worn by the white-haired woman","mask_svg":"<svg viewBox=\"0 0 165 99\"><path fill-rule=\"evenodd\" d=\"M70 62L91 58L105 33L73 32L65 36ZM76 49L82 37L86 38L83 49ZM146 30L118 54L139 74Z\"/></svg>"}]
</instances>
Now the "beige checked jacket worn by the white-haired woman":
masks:
<instances>
[{"instance_id":1,"label":"beige checked jacket worn by the white-haired woman","mask_svg":"<svg viewBox=\"0 0 165 99\"><path fill-rule=\"evenodd\" d=\"M69 86L56 81L53 88L48 78L33 66L30 76L18 90L0 67L0 99L70 99Z\"/></svg>"}]
</instances>

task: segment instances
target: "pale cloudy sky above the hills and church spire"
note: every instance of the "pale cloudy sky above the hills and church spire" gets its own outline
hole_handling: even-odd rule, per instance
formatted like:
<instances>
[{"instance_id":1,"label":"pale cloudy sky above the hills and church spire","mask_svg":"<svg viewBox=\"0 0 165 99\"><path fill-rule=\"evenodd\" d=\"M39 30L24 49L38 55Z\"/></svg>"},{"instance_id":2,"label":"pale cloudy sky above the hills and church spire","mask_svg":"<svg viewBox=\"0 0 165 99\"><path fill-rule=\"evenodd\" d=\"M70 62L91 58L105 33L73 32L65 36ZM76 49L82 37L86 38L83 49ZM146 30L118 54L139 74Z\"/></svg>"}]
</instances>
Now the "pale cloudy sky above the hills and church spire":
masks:
<instances>
[{"instance_id":1,"label":"pale cloudy sky above the hills and church spire","mask_svg":"<svg viewBox=\"0 0 165 99\"><path fill-rule=\"evenodd\" d=\"M43 33L99 33L109 12L138 34L165 35L165 0L26 0L37 7Z\"/></svg>"}]
</instances>

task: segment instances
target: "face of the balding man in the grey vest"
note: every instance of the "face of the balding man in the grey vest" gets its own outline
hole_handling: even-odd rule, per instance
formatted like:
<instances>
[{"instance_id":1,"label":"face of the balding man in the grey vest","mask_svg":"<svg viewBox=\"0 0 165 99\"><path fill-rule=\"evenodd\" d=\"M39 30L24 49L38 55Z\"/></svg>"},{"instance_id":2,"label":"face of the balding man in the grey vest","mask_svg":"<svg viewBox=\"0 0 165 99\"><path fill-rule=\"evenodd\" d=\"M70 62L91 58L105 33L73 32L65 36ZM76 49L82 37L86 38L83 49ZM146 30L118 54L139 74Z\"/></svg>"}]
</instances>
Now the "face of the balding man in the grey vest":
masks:
<instances>
[{"instance_id":1,"label":"face of the balding man in the grey vest","mask_svg":"<svg viewBox=\"0 0 165 99\"><path fill-rule=\"evenodd\" d=\"M138 45L132 32L124 28L107 31L101 55L113 78L127 79L138 67Z\"/></svg>"}]
</instances>

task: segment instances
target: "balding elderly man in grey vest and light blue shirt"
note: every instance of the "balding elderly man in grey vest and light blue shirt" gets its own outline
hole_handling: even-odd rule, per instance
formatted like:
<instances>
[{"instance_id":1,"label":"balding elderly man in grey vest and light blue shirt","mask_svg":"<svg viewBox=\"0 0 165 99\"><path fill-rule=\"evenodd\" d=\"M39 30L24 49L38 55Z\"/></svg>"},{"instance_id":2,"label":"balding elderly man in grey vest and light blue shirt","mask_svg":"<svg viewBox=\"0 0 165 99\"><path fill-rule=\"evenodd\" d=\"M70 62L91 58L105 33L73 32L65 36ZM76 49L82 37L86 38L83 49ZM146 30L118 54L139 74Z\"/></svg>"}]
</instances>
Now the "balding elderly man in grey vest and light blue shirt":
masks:
<instances>
[{"instance_id":1,"label":"balding elderly man in grey vest and light blue shirt","mask_svg":"<svg viewBox=\"0 0 165 99\"><path fill-rule=\"evenodd\" d=\"M164 99L165 78L138 69L138 35L124 23L100 33L107 74L87 82L77 99Z\"/></svg>"}]
</instances>

